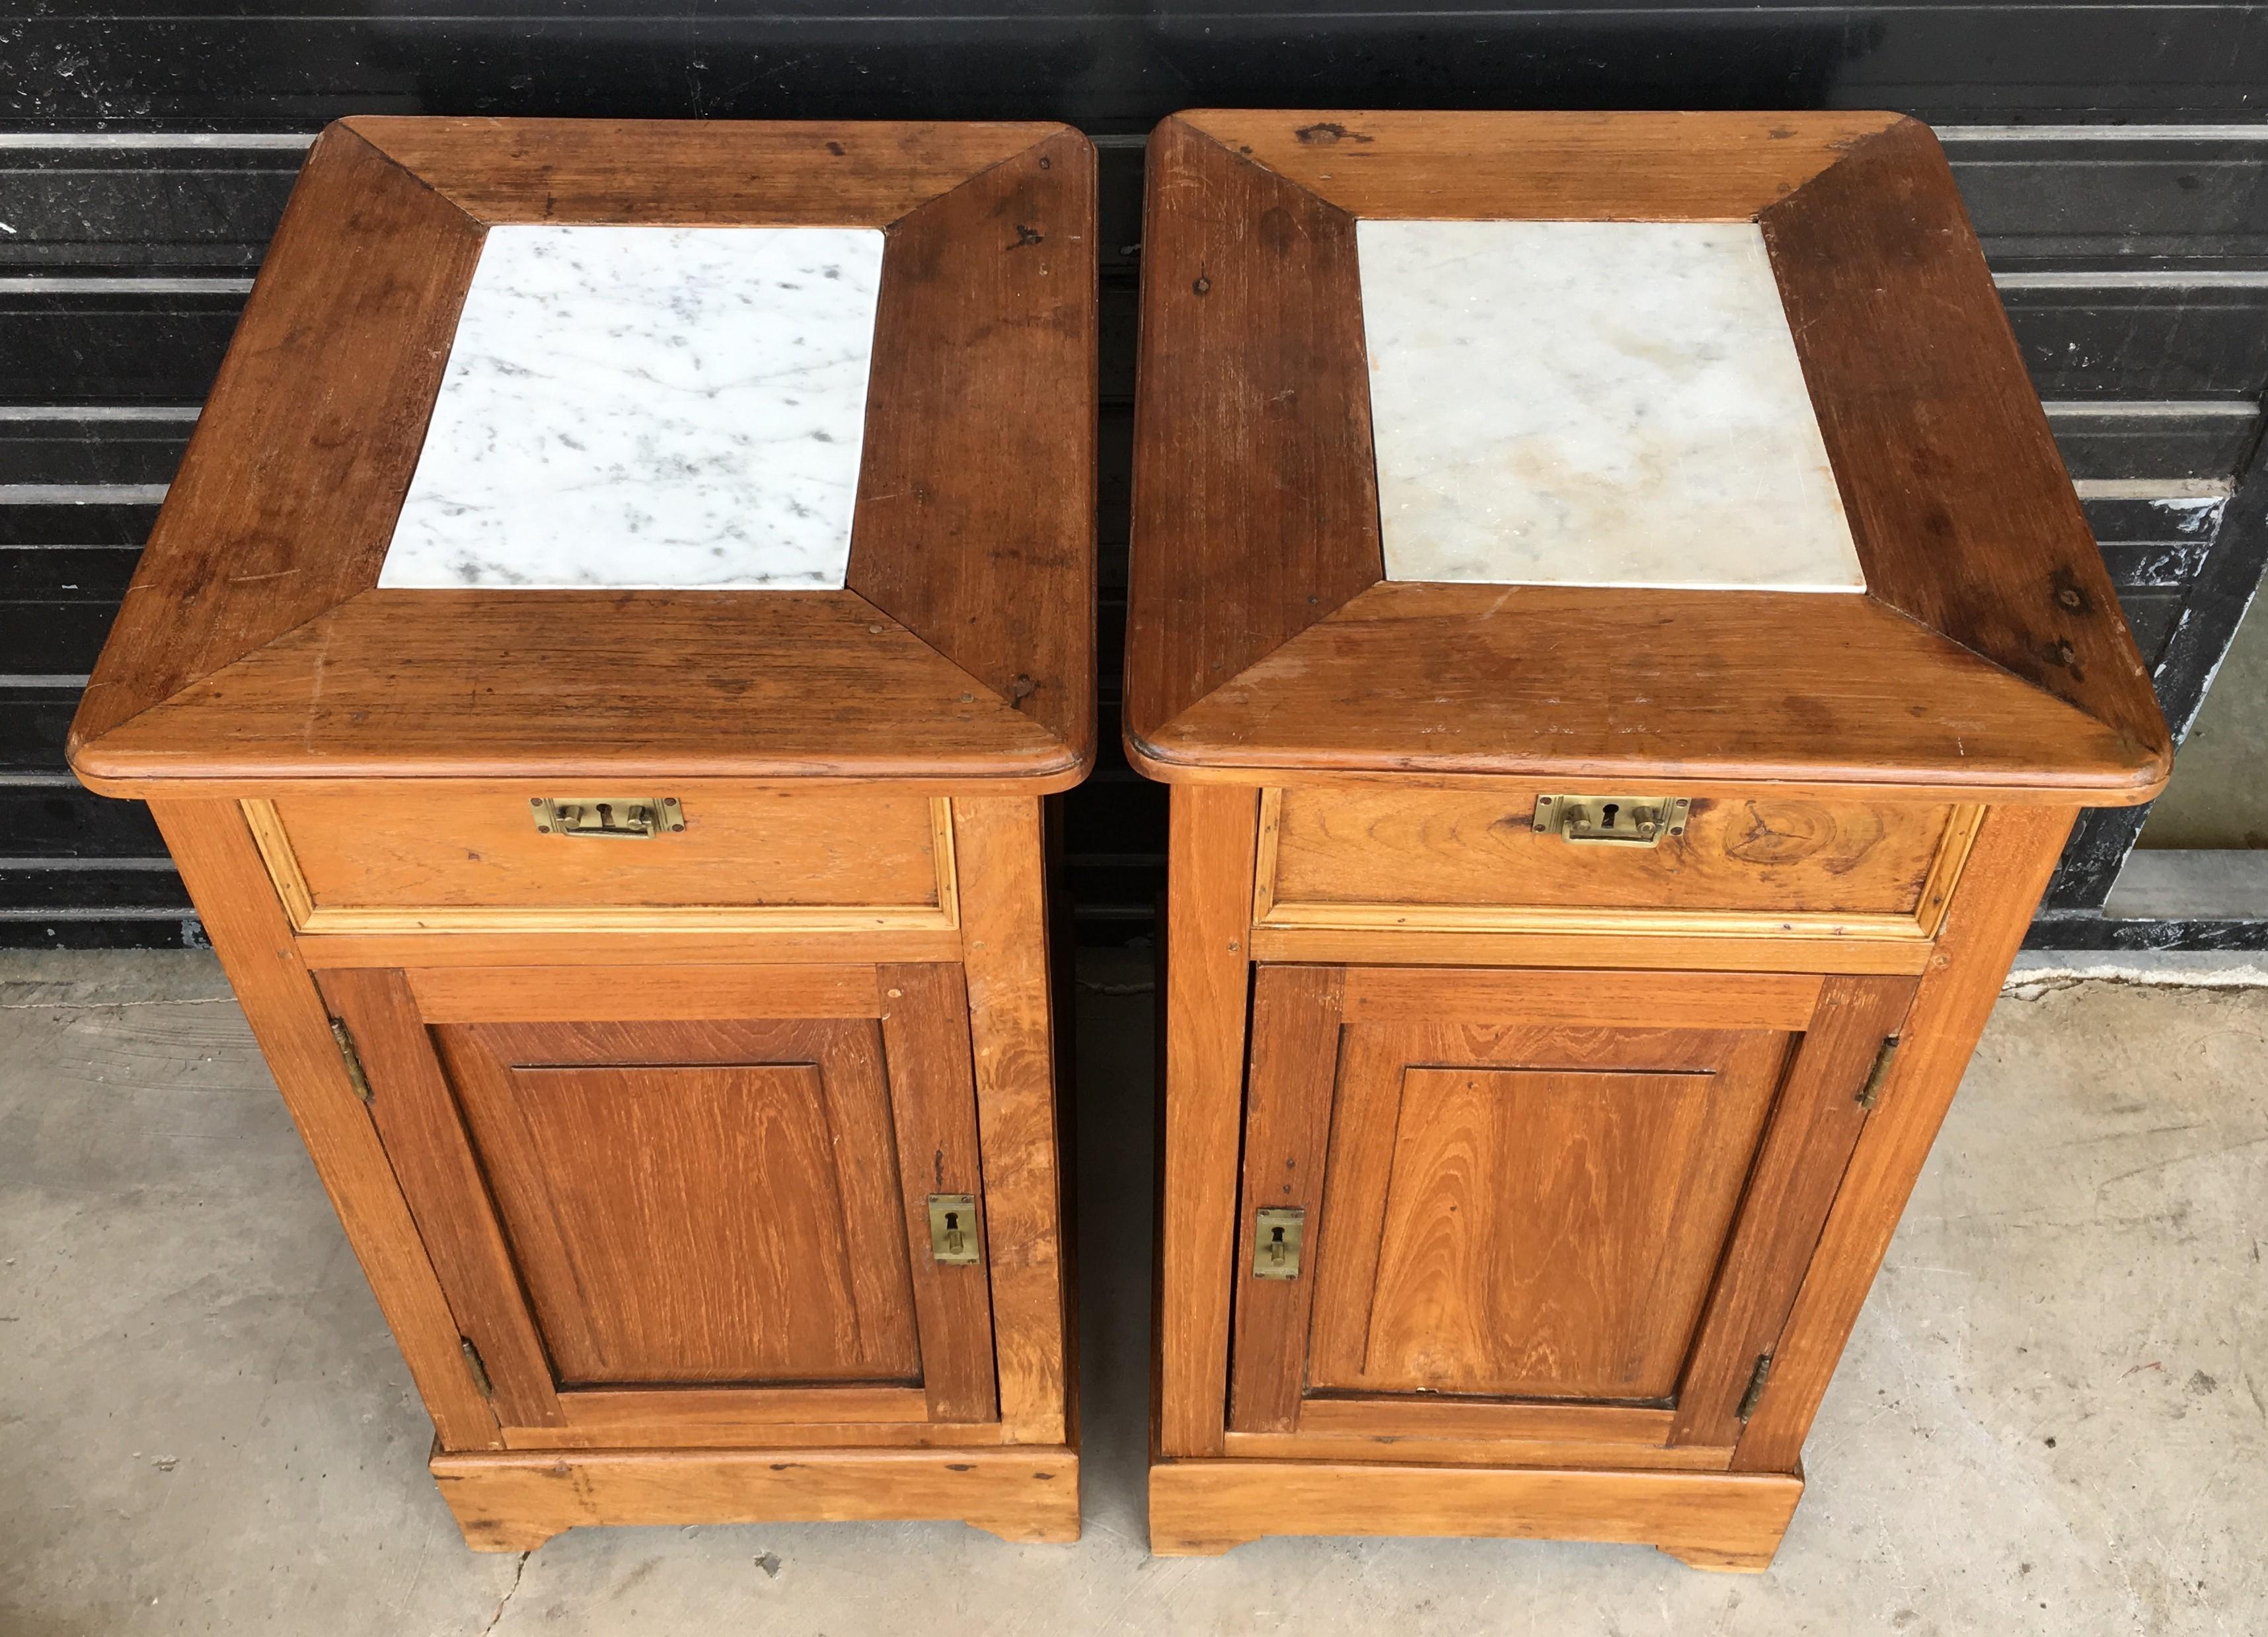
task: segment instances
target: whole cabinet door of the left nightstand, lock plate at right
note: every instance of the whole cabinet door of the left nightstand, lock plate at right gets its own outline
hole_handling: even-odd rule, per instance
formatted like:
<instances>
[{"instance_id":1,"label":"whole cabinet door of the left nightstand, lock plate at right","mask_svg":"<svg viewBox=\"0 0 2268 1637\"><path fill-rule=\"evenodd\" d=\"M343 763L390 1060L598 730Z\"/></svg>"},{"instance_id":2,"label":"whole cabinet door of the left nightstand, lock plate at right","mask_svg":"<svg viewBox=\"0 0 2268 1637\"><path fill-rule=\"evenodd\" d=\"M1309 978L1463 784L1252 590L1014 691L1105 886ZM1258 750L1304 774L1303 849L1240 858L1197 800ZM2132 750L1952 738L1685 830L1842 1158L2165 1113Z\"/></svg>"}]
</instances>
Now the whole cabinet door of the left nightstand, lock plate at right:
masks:
<instances>
[{"instance_id":1,"label":"whole cabinet door of the left nightstand, lock plate at right","mask_svg":"<svg viewBox=\"0 0 2268 1637\"><path fill-rule=\"evenodd\" d=\"M508 1442L996 1417L957 966L322 991Z\"/></svg>"}]
</instances>

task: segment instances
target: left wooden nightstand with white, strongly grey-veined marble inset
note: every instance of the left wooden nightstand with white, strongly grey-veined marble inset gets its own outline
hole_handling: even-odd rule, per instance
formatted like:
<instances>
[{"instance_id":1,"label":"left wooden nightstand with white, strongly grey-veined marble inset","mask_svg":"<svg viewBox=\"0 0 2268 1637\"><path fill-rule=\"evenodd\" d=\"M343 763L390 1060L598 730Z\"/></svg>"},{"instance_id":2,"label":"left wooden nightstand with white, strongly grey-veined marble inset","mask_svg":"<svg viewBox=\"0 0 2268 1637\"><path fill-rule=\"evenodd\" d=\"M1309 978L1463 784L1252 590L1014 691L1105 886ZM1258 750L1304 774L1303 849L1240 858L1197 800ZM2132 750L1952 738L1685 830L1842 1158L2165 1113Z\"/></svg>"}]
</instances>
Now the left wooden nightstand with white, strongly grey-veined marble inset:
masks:
<instances>
[{"instance_id":1,"label":"left wooden nightstand with white, strongly grey-veined marble inset","mask_svg":"<svg viewBox=\"0 0 2268 1637\"><path fill-rule=\"evenodd\" d=\"M1091 224L1052 125L308 159L73 766L156 812L474 1546L1077 1537Z\"/></svg>"}]
</instances>

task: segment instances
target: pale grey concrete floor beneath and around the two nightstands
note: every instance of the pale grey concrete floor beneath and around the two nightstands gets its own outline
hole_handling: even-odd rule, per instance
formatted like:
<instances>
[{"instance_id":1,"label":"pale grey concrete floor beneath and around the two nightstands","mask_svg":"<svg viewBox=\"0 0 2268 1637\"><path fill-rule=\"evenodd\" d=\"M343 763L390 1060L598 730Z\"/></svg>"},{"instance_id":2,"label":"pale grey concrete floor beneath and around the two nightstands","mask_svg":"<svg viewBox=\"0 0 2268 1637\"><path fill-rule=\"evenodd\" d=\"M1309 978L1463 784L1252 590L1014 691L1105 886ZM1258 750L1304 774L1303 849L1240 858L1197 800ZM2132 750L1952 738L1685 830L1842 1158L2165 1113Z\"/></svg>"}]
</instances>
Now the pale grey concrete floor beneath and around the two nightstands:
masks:
<instances>
[{"instance_id":1,"label":"pale grey concrete floor beneath and around the two nightstands","mask_svg":"<svg viewBox=\"0 0 2268 1637\"><path fill-rule=\"evenodd\" d=\"M1533 1542L1145 1558L1148 1013L1080 1018L1077 1546L780 1524L517 1560L467 1553L426 1481L218 970L0 961L0 1632L2268 1630L2268 989L2003 1000L1762 1578Z\"/></svg>"}]
</instances>

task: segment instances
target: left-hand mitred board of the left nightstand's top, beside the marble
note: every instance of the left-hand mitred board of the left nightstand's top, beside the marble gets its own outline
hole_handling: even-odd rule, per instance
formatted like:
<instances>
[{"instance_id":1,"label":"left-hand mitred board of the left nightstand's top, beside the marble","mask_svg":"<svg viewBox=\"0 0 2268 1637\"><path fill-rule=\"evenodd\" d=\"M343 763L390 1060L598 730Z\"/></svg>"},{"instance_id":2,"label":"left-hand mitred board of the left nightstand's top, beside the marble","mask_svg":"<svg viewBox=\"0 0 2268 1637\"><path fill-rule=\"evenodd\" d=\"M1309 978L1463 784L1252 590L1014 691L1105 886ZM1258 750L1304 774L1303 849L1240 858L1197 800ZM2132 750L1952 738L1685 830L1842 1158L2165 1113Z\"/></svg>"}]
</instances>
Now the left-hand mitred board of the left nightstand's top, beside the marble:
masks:
<instances>
[{"instance_id":1,"label":"left-hand mitred board of the left nightstand's top, beside the marble","mask_svg":"<svg viewBox=\"0 0 2268 1637\"><path fill-rule=\"evenodd\" d=\"M315 143L86 685L73 757L376 583L479 254L481 227L367 141L333 127Z\"/></svg>"}]
</instances>

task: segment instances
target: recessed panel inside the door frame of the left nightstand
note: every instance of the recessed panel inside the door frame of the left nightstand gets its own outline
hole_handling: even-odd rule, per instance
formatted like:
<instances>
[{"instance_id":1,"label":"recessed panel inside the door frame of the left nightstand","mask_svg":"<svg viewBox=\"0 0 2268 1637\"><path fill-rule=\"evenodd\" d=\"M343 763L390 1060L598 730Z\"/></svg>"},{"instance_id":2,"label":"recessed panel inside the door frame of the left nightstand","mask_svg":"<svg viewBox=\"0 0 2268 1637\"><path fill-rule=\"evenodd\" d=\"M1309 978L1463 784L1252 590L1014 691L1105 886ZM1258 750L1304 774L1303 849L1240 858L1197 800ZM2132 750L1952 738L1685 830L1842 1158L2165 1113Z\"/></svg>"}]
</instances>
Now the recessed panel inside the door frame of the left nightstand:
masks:
<instances>
[{"instance_id":1,"label":"recessed panel inside the door frame of the left nightstand","mask_svg":"<svg viewBox=\"0 0 2268 1637\"><path fill-rule=\"evenodd\" d=\"M442 1052L562 1388L921 1379L871 1020L739 1025L735 1063L553 1034Z\"/></svg>"}]
</instances>

